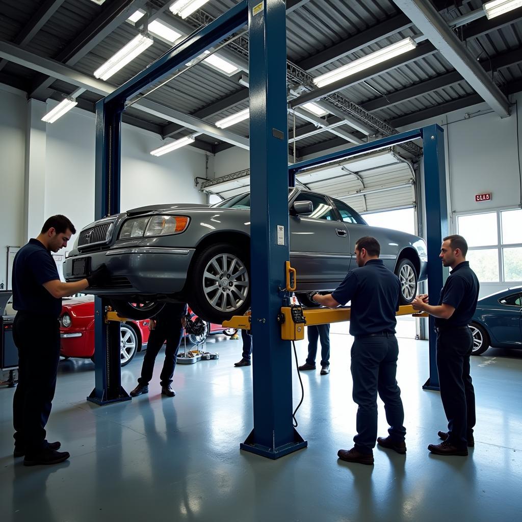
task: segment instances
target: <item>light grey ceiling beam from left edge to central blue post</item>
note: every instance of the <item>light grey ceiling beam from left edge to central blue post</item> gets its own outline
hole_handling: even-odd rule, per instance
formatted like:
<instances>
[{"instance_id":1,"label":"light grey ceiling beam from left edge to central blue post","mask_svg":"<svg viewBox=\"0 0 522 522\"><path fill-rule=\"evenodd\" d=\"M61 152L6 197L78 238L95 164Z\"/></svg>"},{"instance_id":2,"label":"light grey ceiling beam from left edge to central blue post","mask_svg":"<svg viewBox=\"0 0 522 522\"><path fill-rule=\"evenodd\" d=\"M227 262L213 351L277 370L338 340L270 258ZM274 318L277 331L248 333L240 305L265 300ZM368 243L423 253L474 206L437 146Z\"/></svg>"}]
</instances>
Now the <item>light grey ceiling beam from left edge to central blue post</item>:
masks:
<instances>
[{"instance_id":1,"label":"light grey ceiling beam from left edge to central blue post","mask_svg":"<svg viewBox=\"0 0 522 522\"><path fill-rule=\"evenodd\" d=\"M103 97L112 94L116 90L115 87L106 84L104 81L79 73L60 62L49 60L49 58L43 58L42 56L20 49L18 46L8 42L0 41L0 57L6 58L10 62L23 67L36 70L46 76L65 81L70 85L100 94L100 96ZM189 116L179 111L175 111L174 109L169 109L159 103L149 100L141 100L139 103L135 103L133 108L163 118L164 120L177 123L178 125L191 128L193 131L201 132L221 141L227 141L237 147L248 149L248 138L238 136L226 131L225 129L220 129L215 125L204 122L194 116Z\"/></svg>"}]
</instances>

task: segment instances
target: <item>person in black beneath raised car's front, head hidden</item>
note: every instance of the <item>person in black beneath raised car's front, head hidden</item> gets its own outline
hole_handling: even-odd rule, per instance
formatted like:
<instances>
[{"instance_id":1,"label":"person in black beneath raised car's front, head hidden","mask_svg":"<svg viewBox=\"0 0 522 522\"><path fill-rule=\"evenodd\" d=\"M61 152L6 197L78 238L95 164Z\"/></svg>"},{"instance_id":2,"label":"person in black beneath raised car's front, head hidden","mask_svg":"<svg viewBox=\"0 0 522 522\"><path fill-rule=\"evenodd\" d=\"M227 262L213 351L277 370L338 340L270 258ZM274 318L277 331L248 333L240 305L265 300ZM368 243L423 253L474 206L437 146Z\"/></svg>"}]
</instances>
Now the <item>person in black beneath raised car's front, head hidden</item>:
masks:
<instances>
[{"instance_id":1,"label":"person in black beneath raised car's front, head hidden","mask_svg":"<svg viewBox=\"0 0 522 522\"><path fill-rule=\"evenodd\" d=\"M138 385L131 392L132 397L149 393L149 382L152 379L154 362L165 341L167 341L165 361L160 374L161 395L166 395L167 397L176 395L171 384L176 367L177 351L180 349L183 328L186 325L186 315L186 303L166 303L150 319L150 336L147 350L145 351L143 366L141 367L141 376L138 378Z\"/></svg>"}]
</instances>

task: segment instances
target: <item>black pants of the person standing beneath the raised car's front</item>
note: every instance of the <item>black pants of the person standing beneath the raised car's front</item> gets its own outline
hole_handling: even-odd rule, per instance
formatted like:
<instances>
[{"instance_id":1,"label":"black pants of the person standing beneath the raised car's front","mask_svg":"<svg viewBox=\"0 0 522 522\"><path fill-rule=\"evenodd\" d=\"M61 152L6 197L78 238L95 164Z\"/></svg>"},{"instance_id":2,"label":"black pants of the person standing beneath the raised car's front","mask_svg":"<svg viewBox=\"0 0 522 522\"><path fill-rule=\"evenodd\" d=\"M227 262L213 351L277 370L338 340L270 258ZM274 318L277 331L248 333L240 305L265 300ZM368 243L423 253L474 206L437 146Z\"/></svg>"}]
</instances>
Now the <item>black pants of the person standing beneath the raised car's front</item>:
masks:
<instances>
[{"instance_id":1,"label":"black pants of the person standing beneath the raised car's front","mask_svg":"<svg viewBox=\"0 0 522 522\"><path fill-rule=\"evenodd\" d=\"M168 386L172 383L177 351L180 349L182 337L183 326L180 317L161 319L157 322L156 328L150 332L143 366L141 366L141 377L138 378L139 384L144 386L149 384L150 379L152 379L154 362L165 341L167 341L167 346L165 347L165 361L160 374L161 386Z\"/></svg>"}]
</instances>

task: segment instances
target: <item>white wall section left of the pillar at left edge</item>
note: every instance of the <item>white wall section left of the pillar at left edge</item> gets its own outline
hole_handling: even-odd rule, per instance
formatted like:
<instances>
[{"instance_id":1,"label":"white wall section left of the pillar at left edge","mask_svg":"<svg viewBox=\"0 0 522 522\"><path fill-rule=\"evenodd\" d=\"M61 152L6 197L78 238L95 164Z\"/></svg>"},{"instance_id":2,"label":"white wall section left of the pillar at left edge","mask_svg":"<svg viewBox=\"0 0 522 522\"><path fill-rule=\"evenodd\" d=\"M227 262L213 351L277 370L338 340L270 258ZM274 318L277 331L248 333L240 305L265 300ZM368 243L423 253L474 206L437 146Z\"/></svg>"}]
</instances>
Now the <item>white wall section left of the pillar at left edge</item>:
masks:
<instances>
[{"instance_id":1,"label":"white wall section left of the pillar at left edge","mask_svg":"<svg viewBox=\"0 0 522 522\"><path fill-rule=\"evenodd\" d=\"M23 173L27 101L0 90L0 288L7 288L7 246L19 246L23 236Z\"/></svg>"}]
</instances>

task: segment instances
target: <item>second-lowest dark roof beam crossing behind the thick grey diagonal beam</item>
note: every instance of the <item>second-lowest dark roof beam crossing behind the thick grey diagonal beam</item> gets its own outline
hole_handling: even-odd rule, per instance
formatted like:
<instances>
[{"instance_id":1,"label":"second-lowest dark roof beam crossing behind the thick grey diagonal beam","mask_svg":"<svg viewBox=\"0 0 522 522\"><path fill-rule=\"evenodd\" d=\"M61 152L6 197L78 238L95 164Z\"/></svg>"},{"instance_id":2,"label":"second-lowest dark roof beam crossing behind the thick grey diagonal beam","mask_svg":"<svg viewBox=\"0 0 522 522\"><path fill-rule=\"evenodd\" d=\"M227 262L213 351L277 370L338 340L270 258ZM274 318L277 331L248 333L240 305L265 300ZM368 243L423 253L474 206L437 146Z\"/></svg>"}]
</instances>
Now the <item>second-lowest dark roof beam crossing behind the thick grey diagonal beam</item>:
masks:
<instances>
[{"instance_id":1,"label":"second-lowest dark roof beam crossing behind the thick grey diagonal beam","mask_svg":"<svg viewBox=\"0 0 522 522\"><path fill-rule=\"evenodd\" d=\"M522 49L514 49L507 53L493 56L491 60L484 60L480 62L486 72L496 71L503 67L509 67L522 62ZM395 92L389 92L379 98L375 98L369 102L361 104L362 108L366 111L377 111L386 107L396 105L404 101L412 100L422 94L427 94L437 89L443 89L444 87L451 87L452 85L458 84L464 81L461 74L456 70L431 78L429 80L421 81L418 84L411 85L404 89L399 89Z\"/></svg>"}]
</instances>

